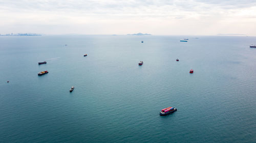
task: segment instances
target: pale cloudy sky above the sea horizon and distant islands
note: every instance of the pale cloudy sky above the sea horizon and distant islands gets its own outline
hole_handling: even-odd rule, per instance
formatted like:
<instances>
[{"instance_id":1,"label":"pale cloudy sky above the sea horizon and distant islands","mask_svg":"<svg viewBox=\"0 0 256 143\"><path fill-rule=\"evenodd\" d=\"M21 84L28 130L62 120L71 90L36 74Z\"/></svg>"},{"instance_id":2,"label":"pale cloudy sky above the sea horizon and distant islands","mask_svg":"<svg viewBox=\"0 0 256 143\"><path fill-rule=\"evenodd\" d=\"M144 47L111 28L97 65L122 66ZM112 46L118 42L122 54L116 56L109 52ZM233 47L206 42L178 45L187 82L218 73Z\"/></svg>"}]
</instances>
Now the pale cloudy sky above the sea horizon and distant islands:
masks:
<instances>
[{"instance_id":1,"label":"pale cloudy sky above the sea horizon and distant islands","mask_svg":"<svg viewBox=\"0 0 256 143\"><path fill-rule=\"evenodd\" d=\"M256 36L256 0L0 0L0 34Z\"/></svg>"}]
</instances>

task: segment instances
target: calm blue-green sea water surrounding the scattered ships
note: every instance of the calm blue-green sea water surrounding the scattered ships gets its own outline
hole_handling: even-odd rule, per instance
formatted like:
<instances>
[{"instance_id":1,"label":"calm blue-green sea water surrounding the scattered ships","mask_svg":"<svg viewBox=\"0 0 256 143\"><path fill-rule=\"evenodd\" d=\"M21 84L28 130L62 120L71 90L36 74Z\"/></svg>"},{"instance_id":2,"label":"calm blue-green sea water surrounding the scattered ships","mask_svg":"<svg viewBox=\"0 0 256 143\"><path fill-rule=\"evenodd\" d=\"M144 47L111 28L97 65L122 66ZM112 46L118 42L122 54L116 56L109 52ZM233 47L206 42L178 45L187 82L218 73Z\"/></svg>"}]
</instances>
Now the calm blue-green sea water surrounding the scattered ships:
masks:
<instances>
[{"instance_id":1,"label":"calm blue-green sea water surrounding the scattered ships","mask_svg":"<svg viewBox=\"0 0 256 143\"><path fill-rule=\"evenodd\" d=\"M256 37L0 37L0 142L256 142L250 44ZM178 110L159 116L168 106Z\"/></svg>"}]
</instances>

